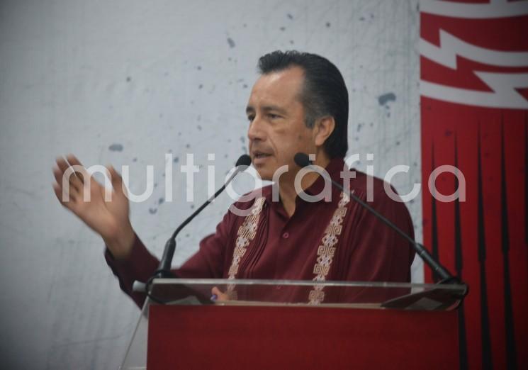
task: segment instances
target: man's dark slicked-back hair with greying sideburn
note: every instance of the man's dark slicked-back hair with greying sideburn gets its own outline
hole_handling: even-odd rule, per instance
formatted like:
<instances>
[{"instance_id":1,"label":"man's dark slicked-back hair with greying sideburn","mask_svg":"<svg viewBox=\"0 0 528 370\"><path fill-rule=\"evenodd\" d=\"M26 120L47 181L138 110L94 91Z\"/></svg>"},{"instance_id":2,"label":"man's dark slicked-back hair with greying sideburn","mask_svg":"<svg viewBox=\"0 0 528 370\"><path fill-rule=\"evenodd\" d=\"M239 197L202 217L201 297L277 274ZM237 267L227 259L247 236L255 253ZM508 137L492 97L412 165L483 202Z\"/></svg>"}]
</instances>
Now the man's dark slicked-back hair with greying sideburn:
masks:
<instances>
[{"instance_id":1,"label":"man's dark slicked-back hair with greying sideburn","mask_svg":"<svg viewBox=\"0 0 528 370\"><path fill-rule=\"evenodd\" d=\"M344 157L348 150L348 91L344 79L335 65L320 55L308 52L280 50L259 59L259 72L269 74L290 67L304 71L304 85L300 101L305 111L305 124L313 128L315 120L332 116L335 128L325 141L325 151L330 158Z\"/></svg>"}]
</instances>

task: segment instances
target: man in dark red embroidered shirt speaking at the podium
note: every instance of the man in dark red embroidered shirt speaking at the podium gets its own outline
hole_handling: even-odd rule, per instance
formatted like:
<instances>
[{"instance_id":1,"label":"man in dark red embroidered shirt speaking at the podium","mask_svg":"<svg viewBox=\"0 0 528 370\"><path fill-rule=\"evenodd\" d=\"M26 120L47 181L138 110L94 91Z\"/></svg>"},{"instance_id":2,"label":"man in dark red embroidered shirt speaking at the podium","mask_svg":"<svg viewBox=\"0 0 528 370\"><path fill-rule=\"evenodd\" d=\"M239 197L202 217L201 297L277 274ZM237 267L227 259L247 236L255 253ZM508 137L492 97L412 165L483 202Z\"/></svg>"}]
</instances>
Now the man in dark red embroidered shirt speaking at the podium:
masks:
<instances>
[{"instance_id":1,"label":"man in dark red embroidered shirt speaking at the podium","mask_svg":"<svg viewBox=\"0 0 528 370\"><path fill-rule=\"evenodd\" d=\"M252 200L235 203L244 215L228 211L213 235L200 242L198 252L179 269L182 278L295 279L337 281L410 281L412 245L381 220L317 172L298 176L297 153L313 158L332 180L345 182L350 193L398 228L413 235L405 205L389 197L383 181L355 172L344 164L348 150L348 91L337 67L319 55L271 52L259 59L246 113L252 164L265 186ZM120 287L138 305L145 294L133 281L147 281L159 261L135 234L128 217L128 198L122 179L109 168L111 201L86 172L62 176L70 166L82 166L73 156L57 159L55 194L106 243L106 261ZM79 168L79 167L77 167ZM91 200L84 201L84 181L90 181ZM369 186L371 189L368 189ZM62 200L62 191L70 195ZM371 197L367 197L370 192ZM324 194L322 196L321 194ZM368 198L368 199L367 199ZM315 199L315 200L314 200ZM318 304L324 295L310 291L305 302Z\"/></svg>"}]
</instances>

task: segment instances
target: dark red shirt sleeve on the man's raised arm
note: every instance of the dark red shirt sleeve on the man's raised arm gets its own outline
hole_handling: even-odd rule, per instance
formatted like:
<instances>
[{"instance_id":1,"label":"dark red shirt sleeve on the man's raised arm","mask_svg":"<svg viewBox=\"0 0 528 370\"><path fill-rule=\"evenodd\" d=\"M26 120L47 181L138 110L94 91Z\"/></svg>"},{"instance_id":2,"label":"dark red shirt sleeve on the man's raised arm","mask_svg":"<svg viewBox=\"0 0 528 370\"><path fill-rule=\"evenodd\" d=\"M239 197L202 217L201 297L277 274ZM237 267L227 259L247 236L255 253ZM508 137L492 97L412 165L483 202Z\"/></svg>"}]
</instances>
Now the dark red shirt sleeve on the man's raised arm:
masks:
<instances>
[{"instance_id":1,"label":"dark red shirt sleeve on the man's raised arm","mask_svg":"<svg viewBox=\"0 0 528 370\"><path fill-rule=\"evenodd\" d=\"M216 227L216 232L201 240L198 252L178 269L172 269L172 273L181 278L221 278L231 223L232 215L228 212ZM127 258L114 258L106 247L105 259L113 274L117 276L121 290L141 308L145 302L145 293L134 292L133 283L145 283L157 270L159 260L150 254L137 235Z\"/></svg>"}]
</instances>

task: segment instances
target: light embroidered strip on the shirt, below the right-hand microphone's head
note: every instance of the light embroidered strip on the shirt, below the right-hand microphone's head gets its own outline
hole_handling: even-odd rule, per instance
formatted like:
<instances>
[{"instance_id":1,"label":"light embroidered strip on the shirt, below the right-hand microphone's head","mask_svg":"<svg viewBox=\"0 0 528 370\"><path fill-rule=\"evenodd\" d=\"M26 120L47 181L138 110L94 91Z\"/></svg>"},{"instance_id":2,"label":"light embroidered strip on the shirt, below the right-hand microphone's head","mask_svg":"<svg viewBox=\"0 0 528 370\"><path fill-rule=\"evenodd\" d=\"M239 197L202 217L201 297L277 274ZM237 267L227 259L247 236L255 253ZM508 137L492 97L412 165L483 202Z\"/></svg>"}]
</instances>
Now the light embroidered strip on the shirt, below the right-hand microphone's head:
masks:
<instances>
[{"instance_id":1,"label":"light embroidered strip on the shirt, below the right-hand microphone's head","mask_svg":"<svg viewBox=\"0 0 528 370\"><path fill-rule=\"evenodd\" d=\"M347 204L350 198L347 194L341 193L341 200L337 205L337 209L332 215L332 219L328 224L325 235L321 239L321 245L318 247L318 258L313 267L313 273L315 277L313 281L325 281L328 271L332 266L334 259L337 242L339 242L339 235L343 228L343 219L347 215ZM318 305L325 300L325 292L323 291L324 286L314 285L313 289L308 295L308 301L310 305Z\"/></svg>"}]
</instances>

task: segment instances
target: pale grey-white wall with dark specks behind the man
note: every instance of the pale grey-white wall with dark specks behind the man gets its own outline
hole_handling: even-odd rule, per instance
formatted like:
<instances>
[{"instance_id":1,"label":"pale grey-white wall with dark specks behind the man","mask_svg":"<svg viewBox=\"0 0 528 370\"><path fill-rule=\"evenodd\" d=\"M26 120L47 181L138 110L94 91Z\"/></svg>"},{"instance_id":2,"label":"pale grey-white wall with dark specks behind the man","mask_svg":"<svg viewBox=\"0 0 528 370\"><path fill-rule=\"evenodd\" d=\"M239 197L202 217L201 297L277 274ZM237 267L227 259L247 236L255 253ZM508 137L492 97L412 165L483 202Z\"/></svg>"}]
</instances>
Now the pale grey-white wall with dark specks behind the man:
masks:
<instances>
[{"instance_id":1,"label":"pale grey-white wall with dark specks behind the man","mask_svg":"<svg viewBox=\"0 0 528 370\"><path fill-rule=\"evenodd\" d=\"M222 3L1 1L2 368L116 369L137 319L99 237L56 201L55 156L130 164L135 193L145 189L145 165L155 165L154 196L133 204L132 218L159 256L191 212L179 176L186 153L204 166L201 202L206 153L216 153L220 184L243 152L245 103L266 52L295 48L335 62L350 93L350 153L373 152L378 176L408 164L409 176L394 182L400 192L420 181L417 0ZM179 190L159 204L170 150ZM182 232L175 264L228 203L224 194ZM421 239L420 199L408 206Z\"/></svg>"}]
</instances>

